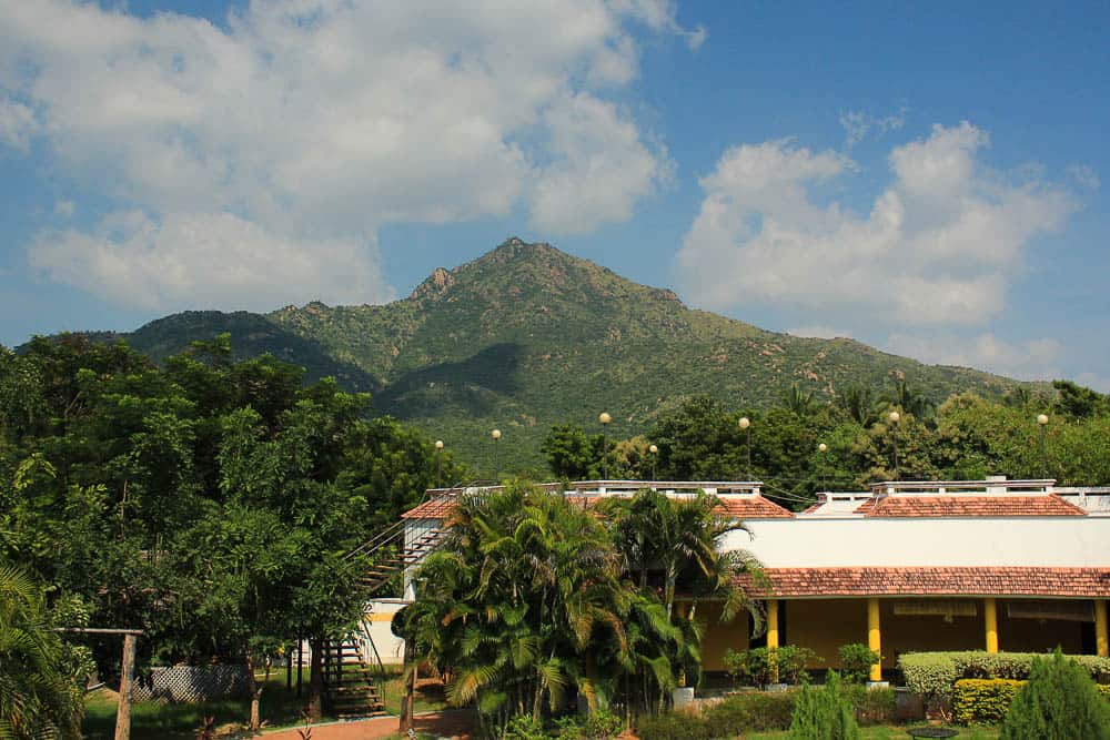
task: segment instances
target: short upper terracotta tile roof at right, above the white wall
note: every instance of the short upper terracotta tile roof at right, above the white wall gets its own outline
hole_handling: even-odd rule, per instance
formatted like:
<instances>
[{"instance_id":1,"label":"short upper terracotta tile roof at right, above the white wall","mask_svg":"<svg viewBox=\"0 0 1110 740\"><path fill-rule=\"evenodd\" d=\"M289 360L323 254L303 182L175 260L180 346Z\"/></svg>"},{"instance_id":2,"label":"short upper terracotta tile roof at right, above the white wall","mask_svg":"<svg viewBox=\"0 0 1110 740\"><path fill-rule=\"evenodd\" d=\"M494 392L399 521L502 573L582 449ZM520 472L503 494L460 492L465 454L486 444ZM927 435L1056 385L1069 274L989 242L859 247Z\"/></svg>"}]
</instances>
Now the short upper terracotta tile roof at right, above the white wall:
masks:
<instances>
[{"instance_id":1,"label":"short upper terracotta tile roof at right, above the white wall","mask_svg":"<svg viewBox=\"0 0 1110 740\"><path fill-rule=\"evenodd\" d=\"M884 496L864 501L868 517L1043 517L1086 516L1056 494L1047 496Z\"/></svg>"}]
</instances>

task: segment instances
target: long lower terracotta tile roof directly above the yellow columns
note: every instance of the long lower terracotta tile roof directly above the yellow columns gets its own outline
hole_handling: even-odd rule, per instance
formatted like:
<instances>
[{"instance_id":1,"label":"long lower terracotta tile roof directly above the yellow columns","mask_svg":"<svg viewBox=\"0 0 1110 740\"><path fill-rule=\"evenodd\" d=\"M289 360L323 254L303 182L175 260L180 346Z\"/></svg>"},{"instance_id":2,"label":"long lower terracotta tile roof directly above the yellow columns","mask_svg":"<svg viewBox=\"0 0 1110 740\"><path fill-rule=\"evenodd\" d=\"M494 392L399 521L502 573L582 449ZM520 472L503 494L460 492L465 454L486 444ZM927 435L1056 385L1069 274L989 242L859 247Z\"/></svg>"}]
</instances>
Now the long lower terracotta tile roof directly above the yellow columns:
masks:
<instances>
[{"instance_id":1,"label":"long lower terracotta tile roof directly above the yellow columns","mask_svg":"<svg viewBox=\"0 0 1110 740\"><path fill-rule=\"evenodd\" d=\"M753 596L1110 596L1110 568L767 568L768 587L750 576L739 585Z\"/></svg>"}]
</instances>

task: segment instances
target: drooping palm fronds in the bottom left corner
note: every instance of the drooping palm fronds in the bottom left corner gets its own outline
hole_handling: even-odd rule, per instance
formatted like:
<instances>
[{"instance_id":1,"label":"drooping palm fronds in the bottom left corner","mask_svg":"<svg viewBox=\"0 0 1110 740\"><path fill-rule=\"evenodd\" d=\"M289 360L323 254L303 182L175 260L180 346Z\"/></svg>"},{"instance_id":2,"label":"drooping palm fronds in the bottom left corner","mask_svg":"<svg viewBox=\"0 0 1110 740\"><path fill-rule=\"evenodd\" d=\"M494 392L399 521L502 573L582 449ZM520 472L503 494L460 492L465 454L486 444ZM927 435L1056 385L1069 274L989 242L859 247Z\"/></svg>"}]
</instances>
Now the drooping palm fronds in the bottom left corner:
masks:
<instances>
[{"instance_id":1,"label":"drooping palm fronds in the bottom left corner","mask_svg":"<svg viewBox=\"0 0 1110 740\"><path fill-rule=\"evenodd\" d=\"M41 590L0 567L0 738L79 737L81 691L60 668L62 652Z\"/></svg>"}]
</instances>

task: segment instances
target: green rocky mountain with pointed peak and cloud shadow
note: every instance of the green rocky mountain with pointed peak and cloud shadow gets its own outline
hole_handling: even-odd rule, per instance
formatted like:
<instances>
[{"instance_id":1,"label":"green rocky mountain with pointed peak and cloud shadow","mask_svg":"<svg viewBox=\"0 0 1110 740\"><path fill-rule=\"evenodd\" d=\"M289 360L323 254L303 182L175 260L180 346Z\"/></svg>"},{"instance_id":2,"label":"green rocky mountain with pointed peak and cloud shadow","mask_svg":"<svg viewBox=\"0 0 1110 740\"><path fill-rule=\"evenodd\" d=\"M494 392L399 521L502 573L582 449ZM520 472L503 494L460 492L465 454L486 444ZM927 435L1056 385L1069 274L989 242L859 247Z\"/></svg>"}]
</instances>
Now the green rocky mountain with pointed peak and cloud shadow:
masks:
<instances>
[{"instance_id":1,"label":"green rocky mountain with pointed peak and cloud shadow","mask_svg":"<svg viewBox=\"0 0 1110 740\"><path fill-rule=\"evenodd\" d=\"M185 312L118 336L162 358L220 332L232 334L241 357L270 352L312 378L332 375L372 392L379 410L480 465L494 454L494 427L504 433L503 462L539 465L553 424L593 429L606 410L612 435L635 434L693 394L737 407L774 403L791 383L830 398L851 385L889 389L906 378L937 402L1018 385L690 310L670 291L518 239L455 270L436 268L387 305Z\"/></svg>"}]
</instances>

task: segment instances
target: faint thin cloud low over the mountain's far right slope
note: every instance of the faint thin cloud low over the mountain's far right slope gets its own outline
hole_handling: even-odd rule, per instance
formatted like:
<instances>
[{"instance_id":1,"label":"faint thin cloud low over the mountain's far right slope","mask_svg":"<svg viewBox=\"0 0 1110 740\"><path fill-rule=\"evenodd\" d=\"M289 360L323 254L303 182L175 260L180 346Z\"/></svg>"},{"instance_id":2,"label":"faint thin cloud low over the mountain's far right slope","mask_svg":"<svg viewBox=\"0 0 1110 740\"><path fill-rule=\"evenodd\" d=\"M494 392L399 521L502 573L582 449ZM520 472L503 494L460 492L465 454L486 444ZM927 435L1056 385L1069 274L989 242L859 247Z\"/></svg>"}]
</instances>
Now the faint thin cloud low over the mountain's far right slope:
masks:
<instances>
[{"instance_id":1,"label":"faint thin cloud low over the mountain's far right slope","mask_svg":"<svg viewBox=\"0 0 1110 740\"><path fill-rule=\"evenodd\" d=\"M926 363L975 367L1023 381L1064 377L1064 347L1051 337L1007 342L989 332L972 336L896 333L888 337L887 347Z\"/></svg>"}]
</instances>

